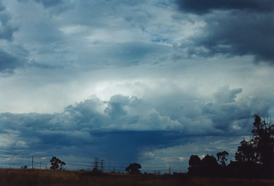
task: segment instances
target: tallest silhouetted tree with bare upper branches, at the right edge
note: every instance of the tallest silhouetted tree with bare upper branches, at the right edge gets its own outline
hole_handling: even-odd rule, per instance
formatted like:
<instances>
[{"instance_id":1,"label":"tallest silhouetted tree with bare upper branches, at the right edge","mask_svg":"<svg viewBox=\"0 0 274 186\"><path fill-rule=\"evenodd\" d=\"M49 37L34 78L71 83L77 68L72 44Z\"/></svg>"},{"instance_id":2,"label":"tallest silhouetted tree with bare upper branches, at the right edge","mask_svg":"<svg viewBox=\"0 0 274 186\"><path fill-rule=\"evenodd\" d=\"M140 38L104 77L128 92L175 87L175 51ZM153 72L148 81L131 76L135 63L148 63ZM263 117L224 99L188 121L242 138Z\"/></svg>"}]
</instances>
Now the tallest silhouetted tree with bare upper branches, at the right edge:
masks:
<instances>
[{"instance_id":1,"label":"tallest silhouetted tree with bare upper branches, at the right edge","mask_svg":"<svg viewBox=\"0 0 274 186\"><path fill-rule=\"evenodd\" d=\"M271 123L271 117L268 121L268 116L262 120L258 114L254 114L253 118L253 138L241 141L235 153L237 162L234 165L252 170L249 174L253 177L274 178L274 124Z\"/></svg>"}]
</instances>

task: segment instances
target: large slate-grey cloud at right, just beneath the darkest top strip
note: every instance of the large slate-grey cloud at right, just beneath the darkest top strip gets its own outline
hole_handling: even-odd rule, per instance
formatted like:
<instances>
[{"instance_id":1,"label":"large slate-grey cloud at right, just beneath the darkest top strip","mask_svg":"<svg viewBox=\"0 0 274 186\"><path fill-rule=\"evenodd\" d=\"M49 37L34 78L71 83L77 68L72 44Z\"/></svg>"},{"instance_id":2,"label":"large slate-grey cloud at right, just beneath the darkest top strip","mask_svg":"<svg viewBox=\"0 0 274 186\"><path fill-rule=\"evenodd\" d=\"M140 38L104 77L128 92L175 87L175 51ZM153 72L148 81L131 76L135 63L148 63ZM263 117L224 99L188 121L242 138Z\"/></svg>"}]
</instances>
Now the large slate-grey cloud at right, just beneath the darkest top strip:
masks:
<instances>
[{"instance_id":1,"label":"large slate-grey cloud at right, just beneath the darkest top strip","mask_svg":"<svg viewBox=\"0 0 274 186\"><path fill-rule=\"evenodd\" d=\"M274 14L250 13L248 11L218 12L202 19L207 23L182 43L188 57L227 57L254 55L255 62L274 61ZM180 50L179 49L179 50ZM181 51L182 53L182 51ZM180 56L176 54L174 57Z\"/></svg>"}]
</instances>

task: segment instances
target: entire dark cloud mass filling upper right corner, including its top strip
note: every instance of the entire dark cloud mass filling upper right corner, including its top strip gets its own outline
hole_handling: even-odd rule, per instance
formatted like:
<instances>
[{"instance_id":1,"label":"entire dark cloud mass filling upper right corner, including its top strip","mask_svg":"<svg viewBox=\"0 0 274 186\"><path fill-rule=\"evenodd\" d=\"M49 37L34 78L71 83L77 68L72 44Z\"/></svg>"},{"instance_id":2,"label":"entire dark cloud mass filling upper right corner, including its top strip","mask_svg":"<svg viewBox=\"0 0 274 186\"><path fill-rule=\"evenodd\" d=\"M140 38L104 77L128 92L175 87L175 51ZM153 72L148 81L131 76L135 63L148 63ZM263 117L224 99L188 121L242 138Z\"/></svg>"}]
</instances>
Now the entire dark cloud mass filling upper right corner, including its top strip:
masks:
<instances>
[{"instance_id":1,"label":"entire dark cloud mass filling upper right corner, including its top strip","mask_svg":"<svg viewBox=\"0 0 274 186\"><path fill-rule=\"evenodd\" d=\"M178 1L179 2L179 1ZM254 55L274 62L273 1L180 1L181 10L203 15L206 25L180 48L188 57ZM216 10L210 12L210 10ZM229 11L222 11L222 10ZM180 58L175 54L174 59Z\"/></svg>"}]
</instances>

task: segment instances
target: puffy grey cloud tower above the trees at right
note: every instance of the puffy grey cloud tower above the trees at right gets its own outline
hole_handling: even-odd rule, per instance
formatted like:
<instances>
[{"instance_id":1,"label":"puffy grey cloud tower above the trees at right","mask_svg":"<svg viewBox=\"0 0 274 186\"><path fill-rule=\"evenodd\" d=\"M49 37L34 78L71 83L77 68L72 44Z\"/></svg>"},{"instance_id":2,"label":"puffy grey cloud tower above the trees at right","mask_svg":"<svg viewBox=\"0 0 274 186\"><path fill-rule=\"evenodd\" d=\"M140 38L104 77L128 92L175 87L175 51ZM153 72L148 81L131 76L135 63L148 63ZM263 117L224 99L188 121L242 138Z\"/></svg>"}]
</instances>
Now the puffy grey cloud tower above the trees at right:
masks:
<instances>
[{"instance_id":1,"label":"puffy grey cloud tower above the trees at right","mask_svg":"<svg viewBox=\"0 0 274 186\"><path fill-rule=\"evenodd\" d=\"M232 133L241 129L242 132L252 123L252 116L267 114L269 104L258 101L255 97L244 97L237 101L241 88L230 90L228 86L220 87L213 94L213 101L201 104L202 112L212 121L213 127ZM248 132L248 131L247 131Z\"/></svg>"}]
</instances>

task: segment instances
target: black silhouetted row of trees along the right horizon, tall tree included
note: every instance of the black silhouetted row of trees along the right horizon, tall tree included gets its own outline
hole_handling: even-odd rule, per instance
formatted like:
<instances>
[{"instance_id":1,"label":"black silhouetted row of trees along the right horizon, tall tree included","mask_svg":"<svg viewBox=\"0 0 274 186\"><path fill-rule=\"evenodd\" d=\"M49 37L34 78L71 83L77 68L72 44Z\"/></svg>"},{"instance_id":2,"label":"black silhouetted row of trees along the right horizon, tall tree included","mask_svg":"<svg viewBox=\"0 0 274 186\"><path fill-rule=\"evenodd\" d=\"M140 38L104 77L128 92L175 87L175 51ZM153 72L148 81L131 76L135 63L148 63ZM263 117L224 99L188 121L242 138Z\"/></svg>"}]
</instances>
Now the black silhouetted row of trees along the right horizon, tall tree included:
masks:
<instances>
[{"instance_id":1,"label":"black silhouetted row of trees along the right horizon, tall tree included","mask_svg":"<svg viewBox=\"0 0 274 186\"><path fill-rule=\"evenodd\" d=\"M241 178L274 178L274 124L255 114L253 137L240 142L235 153L235 161L226 165L228 152L218 152L217 159L207 154L200 159L191 155L188 174L194 176L222 176ZM218 163L219 162L219 163Z\"/></svg>"}]
</instances>

